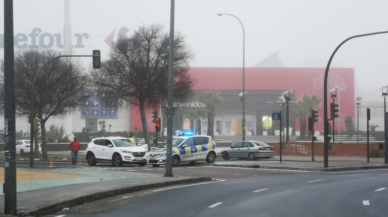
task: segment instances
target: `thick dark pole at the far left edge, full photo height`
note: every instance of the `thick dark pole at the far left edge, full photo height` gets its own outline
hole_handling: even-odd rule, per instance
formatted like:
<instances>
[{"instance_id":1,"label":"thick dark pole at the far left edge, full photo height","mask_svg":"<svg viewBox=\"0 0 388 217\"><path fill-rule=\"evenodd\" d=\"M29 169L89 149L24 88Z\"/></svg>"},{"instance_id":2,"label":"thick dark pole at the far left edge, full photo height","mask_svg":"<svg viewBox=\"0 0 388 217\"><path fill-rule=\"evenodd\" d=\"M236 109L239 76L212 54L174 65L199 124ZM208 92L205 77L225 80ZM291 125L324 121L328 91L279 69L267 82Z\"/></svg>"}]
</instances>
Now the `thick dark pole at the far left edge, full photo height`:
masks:
<instances>
[{"instance_id":1,"label":"thick dark pole at the far left edge, full photo height","mask_svg":"<svg viewBox=\"0 0 388 217\"><path fill-rule=\"evenodd\" d=\"M17 214L13 0L4 1L4 127L4 213Z\"/></svg>"}]
</instances>

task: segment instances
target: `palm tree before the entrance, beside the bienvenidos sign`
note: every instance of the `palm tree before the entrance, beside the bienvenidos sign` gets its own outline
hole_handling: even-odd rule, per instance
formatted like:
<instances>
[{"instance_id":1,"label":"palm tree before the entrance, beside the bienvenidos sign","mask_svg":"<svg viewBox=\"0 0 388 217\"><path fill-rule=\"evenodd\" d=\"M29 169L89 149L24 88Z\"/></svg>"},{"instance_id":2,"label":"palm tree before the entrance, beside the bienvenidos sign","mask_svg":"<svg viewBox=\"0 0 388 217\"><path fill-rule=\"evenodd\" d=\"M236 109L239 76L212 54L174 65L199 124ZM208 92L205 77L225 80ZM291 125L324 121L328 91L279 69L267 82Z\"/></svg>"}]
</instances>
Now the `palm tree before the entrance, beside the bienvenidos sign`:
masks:
<instances>
[{"instance_id":1,"label":"palm tree before the entrance, beside the bienvenidos sign","mask_svg":"<svg viewBox=\"0 0 388 217\"><path fill-rule=\"evenodd\" d=\"M223 99L217 90L204 90L198 97L198 101L206 105L208 116L208 135L214 138L215 109L222 104Z\"/></svg>"}]
</instances>

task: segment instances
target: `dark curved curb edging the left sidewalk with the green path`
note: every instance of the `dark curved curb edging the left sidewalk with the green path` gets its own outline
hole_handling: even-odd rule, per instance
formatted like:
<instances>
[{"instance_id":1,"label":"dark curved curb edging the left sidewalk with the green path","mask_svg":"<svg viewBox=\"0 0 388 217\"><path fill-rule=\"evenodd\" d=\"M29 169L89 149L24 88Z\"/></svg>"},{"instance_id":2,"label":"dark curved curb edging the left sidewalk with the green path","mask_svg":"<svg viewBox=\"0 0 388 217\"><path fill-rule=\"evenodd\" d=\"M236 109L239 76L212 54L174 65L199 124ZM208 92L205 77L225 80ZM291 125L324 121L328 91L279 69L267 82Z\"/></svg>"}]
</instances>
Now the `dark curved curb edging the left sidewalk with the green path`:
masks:
<instances>
[{"instance_id":1,"label":"dark curved curb edging the left sidewalk with the green path","mask_svg":"<svg viewBox=\"0 0 388 217\"><path fill-rule=\"evenodd\" d=\"M119 194L126 194L126 193L132 193L135 191L142 191L142 190L147 190L147 189L152 189L152 188L167 187L167 186L180 185L180 184L205 182L205 181L211 181L211 180L212 179L210 177L199 177L199 178L182 179L182 180L178 180L178 181L157 182L157 183L153 183L153 184L121 187L121 188L112 189L109 191L102 191L102 192L98 192L98 193L88 194L85 196L74 198L72 200L54 203L53 205L49 205L46 207L35 208L34 211L28 212L28 213L21 213L21 215L42 216L42 215L47 215L47 214L62 210L62 208L64 208L64 207L72 207L75 205L80 205L80 204L87 203L90 201L99 200L99 199L107 198L107 197L111 197L111 196L116 196Z\"/></svg>"}]
</instances>

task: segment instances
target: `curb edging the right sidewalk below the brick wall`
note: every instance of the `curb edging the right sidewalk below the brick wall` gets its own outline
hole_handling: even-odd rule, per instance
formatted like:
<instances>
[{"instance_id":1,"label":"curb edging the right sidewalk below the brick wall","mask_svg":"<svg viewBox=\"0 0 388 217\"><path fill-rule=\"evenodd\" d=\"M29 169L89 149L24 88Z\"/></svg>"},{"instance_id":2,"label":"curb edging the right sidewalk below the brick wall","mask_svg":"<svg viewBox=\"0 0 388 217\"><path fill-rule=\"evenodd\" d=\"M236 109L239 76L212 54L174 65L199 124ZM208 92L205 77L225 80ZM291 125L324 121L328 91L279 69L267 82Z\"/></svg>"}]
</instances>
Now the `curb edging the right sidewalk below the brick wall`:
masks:
<instances>
[{"instance_id":1,"label":"curb edging the right sidewalk below the brick wall","mask_svg":"<svg viewBox=\"0 0 388 217\"><path fill-rule=\"evenodd\" d=\"M301 168L301 167L274 167L274 166L260 166L260 165L215 165L216 167L241 167L241 168L255 168L255 169L276 169L276 170L299 170L299 171L312 171L312 172L331 172L342 170L361 170L361 169L375 169L375 168L388 168L388 165L384 166L364 166L364 167L334 167L334 168Z\"/></svg>"}]
</instances>

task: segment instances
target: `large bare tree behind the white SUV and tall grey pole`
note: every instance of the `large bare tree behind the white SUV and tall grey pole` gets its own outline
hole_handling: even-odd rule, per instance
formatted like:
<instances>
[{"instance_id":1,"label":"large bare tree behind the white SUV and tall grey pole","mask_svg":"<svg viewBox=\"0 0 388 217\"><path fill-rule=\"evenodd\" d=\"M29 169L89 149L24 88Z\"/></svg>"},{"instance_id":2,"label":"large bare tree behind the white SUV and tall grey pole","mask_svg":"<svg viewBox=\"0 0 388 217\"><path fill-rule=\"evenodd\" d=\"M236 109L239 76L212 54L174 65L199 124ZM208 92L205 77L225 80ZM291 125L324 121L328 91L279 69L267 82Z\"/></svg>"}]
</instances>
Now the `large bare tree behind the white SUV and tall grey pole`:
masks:
<instances>
[{"instance_id":1,"label":"large bare tree behind the white SUV and tall grey pole","mask_svg":"<svg viewBox=\"0 0 388 217\"><path fill-rule=\"evenodd\" d=\"M162 25L140 26L130 38L120 38L113 44L100 70L90 72L92 83L110 100L139 106L147 144L145 108L154 108L167 96L168 42L169 36ZM187 73L194 52L180 33L176 34L174 43L174 98L184 99L194 85Z\"/></svg>"}]
</instances>

